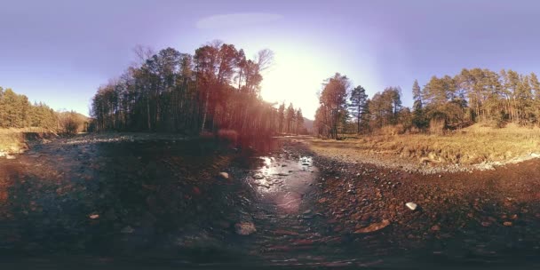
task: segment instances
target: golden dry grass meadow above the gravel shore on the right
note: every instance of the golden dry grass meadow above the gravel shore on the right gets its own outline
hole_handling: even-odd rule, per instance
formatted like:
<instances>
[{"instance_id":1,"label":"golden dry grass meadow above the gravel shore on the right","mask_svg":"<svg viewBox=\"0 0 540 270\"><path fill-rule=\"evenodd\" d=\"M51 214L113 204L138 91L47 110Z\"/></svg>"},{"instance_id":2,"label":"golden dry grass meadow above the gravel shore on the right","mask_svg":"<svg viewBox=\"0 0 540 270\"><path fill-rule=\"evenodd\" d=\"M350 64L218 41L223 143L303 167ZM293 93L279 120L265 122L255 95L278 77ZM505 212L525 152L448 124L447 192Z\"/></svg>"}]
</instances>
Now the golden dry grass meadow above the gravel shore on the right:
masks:
<instances>
[{"instance_id":1,"label":"golden dry grass meadow above the gravel shore on the right","mask_svg":"<svg viewBox=\"0 0 540 270\"><path fill-rule=\"evenodd\" d=\"M420 163L508 162L540 154L540 129L473 125L447 135L371 135L344 141L314 140L314 150L334 147L347 155L388 154Z\"/></svg>"}]
</instances>

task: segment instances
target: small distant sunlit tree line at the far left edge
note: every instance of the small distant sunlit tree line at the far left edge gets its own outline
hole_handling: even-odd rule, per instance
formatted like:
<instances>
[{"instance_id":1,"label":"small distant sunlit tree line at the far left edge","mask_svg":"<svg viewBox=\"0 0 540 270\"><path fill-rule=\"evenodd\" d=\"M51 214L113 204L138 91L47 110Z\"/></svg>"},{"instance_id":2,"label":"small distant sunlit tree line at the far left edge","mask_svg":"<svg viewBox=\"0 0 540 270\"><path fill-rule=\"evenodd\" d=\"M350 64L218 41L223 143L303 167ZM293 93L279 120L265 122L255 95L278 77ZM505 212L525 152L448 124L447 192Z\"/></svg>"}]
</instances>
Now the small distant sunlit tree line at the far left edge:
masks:
<instances>
[{"instance_id":1,"label":"small distant sunlit tree line at the far left edge","mask_svg":"<svg viewBox=\"0 0 540 270\"><path fill-rule=\"evenodd\" d=\"M34 104L11 88L0 87L0 128L42 128L54 132L83 131L86 117L75 112L55 112L42 102Z\"/></svg>"}]
</instances>

